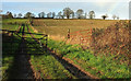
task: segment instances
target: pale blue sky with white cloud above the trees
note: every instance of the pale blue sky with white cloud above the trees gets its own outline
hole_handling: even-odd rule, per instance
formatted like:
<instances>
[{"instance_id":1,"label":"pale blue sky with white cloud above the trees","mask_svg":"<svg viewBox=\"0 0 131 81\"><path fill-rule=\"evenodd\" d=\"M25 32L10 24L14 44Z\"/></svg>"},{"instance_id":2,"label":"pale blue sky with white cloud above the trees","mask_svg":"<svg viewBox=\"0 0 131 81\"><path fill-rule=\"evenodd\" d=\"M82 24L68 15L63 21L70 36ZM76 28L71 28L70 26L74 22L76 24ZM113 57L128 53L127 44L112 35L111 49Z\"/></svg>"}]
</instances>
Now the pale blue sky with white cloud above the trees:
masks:
<instances>
[{"instance_id":1,"label":"pale blue sky with white cloud above the trees","mask_svg":"<svg viewBox=\"0 0 131 81\"><path fill-rule=\"evenodd\" d=\"M108 1L108 0L107 0ZM11 11L14 13L25 14L26 12L33 12L36 15L44 11L56 12L62 11L63 8L71 8L73 11L83 9L84 12L88 13L91 10L95 11L96 19L102 19L103 14L108 14L108 19L112 19L112 14L118 15L120 19L129 19L129 2L116 1L116 2L2 2L3 13Z\"/></svg>"}]
</instances>

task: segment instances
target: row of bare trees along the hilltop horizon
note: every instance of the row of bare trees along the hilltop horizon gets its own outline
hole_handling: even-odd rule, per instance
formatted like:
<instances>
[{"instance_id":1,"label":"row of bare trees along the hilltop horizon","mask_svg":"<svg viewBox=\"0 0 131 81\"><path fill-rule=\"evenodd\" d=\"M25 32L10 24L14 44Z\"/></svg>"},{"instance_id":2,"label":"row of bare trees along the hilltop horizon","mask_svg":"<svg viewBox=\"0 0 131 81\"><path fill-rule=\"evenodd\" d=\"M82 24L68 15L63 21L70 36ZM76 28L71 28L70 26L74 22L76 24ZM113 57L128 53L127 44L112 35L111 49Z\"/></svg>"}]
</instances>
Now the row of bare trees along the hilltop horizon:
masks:
<instances>
[{"instance_id":1,"label":"row of bare trees along the hilltop horizon","mask_svg":"<svg viewBox=\"0 0 131 81\"><path fill-rule=\"evenodd\" d=\"M39 18L39 19L95 19L95 11L90 11L88 13L84 12L83 9L79 9L76 10L76 12L74 12L72 9L70 8L64 8L62 11L56 13L56 12L48 12L47 14L45 12L40 12L37 14L38 16L36 16L34 13L32 12L27 12L26 14L12 14L11 12L7 12L7 14L2 15L2 18ZM107 14L102 15L102 18L105 20L108 18ZM117 19L119 20L119 16L117 15L112 15L112 19Z\"/></svg>"}]
</instances>

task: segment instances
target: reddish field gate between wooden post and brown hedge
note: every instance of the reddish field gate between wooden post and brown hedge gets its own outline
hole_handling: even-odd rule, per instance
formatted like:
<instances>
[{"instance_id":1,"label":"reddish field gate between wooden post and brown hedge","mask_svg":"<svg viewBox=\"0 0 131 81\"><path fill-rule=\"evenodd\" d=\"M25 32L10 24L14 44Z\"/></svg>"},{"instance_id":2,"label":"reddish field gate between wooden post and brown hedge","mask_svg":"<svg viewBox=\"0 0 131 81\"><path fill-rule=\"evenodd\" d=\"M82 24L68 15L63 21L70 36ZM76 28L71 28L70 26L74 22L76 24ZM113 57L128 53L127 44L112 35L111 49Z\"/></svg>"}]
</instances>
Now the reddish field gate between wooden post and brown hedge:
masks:
<instances>
[{"instance_id":1,"label":"reddish field gate between wooden post and brown hedge","mask_svg":"<svg viewBox=\"0 0 131 81\"><path fill-rule=\"evenodd\" d=\"M70 44L75 42L76 44L85 45L90 47L90 43L92 42L92 33L93 33L92 27L87 30L71 32L71 33L69 30L68 39L70 39Z\"/></svg>"}]
</instances>

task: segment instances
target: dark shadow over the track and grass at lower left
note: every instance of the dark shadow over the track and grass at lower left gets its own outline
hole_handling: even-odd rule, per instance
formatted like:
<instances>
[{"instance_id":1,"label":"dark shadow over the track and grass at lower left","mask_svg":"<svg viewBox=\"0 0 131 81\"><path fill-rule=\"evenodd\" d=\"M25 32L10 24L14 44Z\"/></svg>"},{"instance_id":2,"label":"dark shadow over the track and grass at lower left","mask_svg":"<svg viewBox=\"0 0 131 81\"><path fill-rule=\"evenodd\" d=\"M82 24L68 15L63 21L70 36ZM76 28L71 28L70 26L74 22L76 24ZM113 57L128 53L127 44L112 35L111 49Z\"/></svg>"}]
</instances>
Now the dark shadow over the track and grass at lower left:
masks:
<instances>
[{"instance_id":1,"label":"dark shadow over the track and grass at lower left","mask_svg":"<svg viewBox=\"0 0 131 81\"><path fill-rule=\"evenodd\" d=\"M33 72L28 62L29 56L26 55L25 39L2 34L2 60L12 57L9 61L2 61L3 67L4 65L9 65L9 68L4 71L2 80L33 79Z\"/></svg>"}]
</instances>

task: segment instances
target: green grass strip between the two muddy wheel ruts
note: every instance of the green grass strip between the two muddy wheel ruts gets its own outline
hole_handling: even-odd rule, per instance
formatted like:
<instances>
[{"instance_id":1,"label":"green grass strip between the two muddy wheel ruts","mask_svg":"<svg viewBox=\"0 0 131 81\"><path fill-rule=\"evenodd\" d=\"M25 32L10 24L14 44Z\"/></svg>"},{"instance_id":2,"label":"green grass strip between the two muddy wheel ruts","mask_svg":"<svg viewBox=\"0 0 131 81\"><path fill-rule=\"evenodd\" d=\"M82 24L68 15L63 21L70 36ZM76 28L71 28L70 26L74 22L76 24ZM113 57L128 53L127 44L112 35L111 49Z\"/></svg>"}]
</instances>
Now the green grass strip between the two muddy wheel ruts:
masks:
<instances>
[{"instance_id":1,"label":"green grass strip between the two muddy wheel ruts","mask_svg":"<svg viewBox=\"0 0 131 81\"><path fill-rule=\"evenodd\" d=\"M33 31L32 31L33 32ZM27 54L31 54L31 63L36 72L40 72L43 79L75 79L50 53L43 50L34 39L26 39Z\"/></svg>"}]
</instances>

